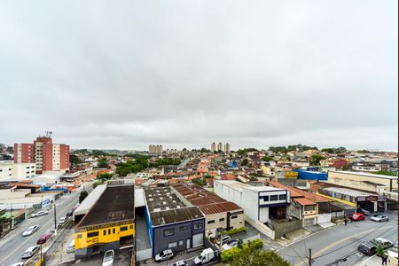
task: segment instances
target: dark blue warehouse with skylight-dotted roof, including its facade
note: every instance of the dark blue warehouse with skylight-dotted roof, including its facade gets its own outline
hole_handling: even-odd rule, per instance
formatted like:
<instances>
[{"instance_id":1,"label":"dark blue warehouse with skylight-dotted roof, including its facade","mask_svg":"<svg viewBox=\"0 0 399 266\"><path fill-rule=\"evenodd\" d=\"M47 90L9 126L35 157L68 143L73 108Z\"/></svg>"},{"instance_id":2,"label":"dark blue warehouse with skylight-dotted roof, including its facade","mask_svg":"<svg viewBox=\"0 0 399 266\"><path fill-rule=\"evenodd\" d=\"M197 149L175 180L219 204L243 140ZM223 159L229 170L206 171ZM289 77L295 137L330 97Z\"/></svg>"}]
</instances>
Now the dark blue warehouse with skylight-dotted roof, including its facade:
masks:
<instances>
[{"instance_id":1,"label":"dark blue warehouse with skylight-dotted roof, including its facade","mask_svg":"<svg viewBox=\"0 0 399 266\"><path fill-rule=\"evenodd\" d=\"M145 188L145 216L153 257L165 249L174 253L203 246L205 217L199 207L187 207L170 187Z\"/></svg>"}]
</instances>

